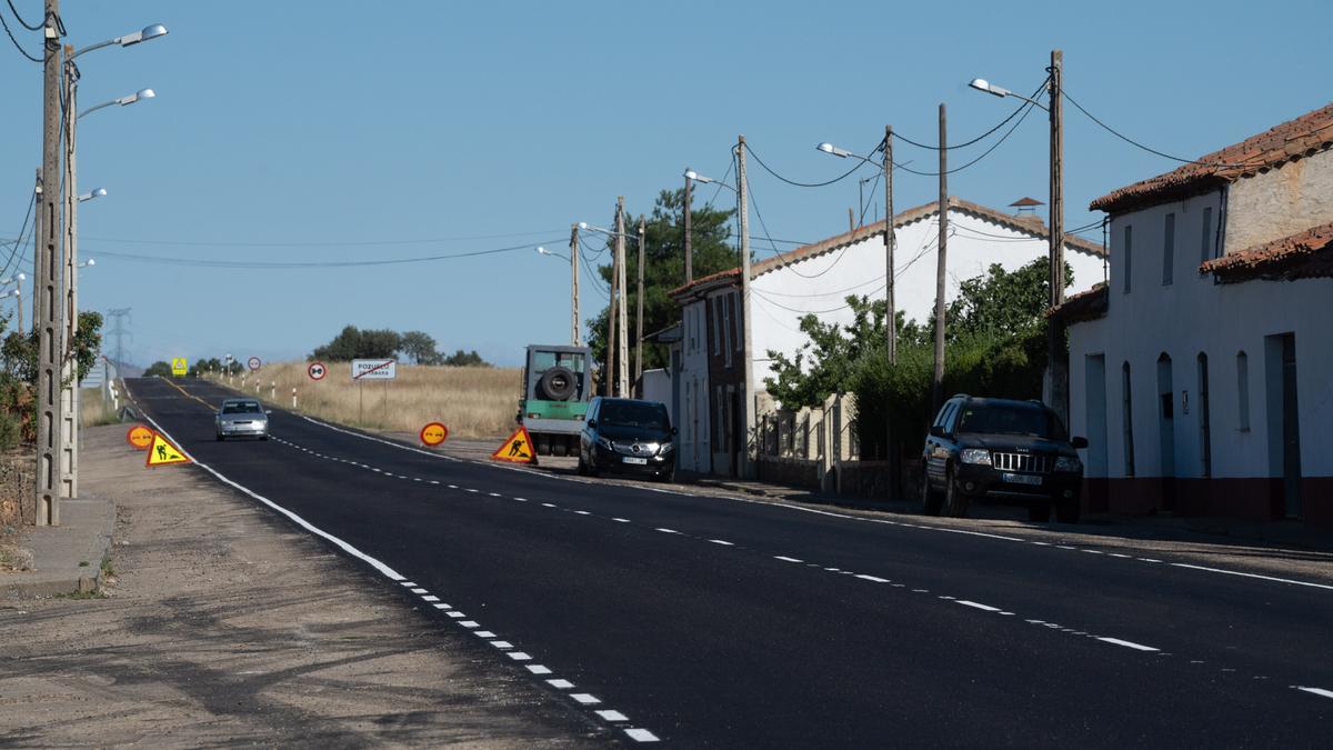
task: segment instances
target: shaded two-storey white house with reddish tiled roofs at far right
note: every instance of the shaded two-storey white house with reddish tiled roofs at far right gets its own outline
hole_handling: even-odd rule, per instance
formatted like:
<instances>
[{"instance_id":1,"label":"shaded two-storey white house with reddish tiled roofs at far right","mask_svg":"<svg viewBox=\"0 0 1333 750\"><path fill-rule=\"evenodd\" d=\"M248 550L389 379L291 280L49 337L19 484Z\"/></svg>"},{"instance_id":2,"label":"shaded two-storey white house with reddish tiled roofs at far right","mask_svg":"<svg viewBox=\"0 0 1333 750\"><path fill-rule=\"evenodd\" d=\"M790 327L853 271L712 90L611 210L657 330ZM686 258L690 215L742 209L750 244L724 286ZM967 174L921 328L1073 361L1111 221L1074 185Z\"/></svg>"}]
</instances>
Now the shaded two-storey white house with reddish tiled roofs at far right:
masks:
<instances>
[{"instance_id":1,"label":"shaded two-storey white house with reddish tiled roofs at far right","mask_svg":"<svg viewBox=\"0 0 1333 750\"><path fill-rule=\"evenodd\" d=\"M1333 105L1092 203L1069 323L1093 510L1333 523Z\"/></svg>"}]
</instances>

